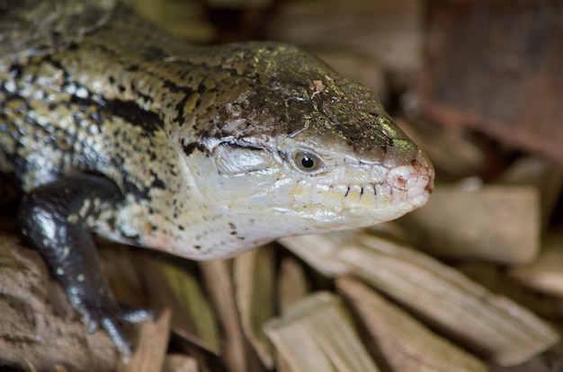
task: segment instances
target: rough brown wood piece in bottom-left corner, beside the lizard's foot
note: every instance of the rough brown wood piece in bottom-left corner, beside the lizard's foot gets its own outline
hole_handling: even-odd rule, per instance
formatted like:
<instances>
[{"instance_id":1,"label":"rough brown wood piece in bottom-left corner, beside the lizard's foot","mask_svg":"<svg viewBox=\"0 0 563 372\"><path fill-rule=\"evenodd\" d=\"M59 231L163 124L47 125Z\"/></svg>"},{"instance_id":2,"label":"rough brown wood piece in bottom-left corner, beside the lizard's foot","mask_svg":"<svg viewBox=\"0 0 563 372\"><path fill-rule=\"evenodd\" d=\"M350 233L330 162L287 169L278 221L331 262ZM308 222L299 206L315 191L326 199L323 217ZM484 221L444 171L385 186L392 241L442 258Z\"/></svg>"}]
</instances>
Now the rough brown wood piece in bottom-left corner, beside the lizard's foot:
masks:
<instances>
[{"instance_id":1,"label":"rough brown wood piece in bottom-left corner, beside the lizard's foot","mask_svg":"<svg viewBox=\"0 0 563 372\"><path fill-rule=\"evenodd\" d=\"M89 334L38 252L0 235L0 366L110 371L117 354L106 332Z\"/></svg>"}]
</instances>

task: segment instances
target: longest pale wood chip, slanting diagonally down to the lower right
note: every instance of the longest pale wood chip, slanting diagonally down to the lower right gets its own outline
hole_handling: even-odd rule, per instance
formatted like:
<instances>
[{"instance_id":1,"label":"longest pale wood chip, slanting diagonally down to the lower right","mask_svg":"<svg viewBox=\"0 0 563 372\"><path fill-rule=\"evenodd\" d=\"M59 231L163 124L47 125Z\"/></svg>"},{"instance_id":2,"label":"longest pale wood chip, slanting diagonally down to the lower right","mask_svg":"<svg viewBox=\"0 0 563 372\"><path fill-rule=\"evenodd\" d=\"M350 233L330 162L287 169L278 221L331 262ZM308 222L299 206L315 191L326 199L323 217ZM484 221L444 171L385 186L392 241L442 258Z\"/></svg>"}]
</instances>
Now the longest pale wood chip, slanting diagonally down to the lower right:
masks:
<instances>
[{"instance_id":1,"label":"longest pale wood chip, slanting diagonally down to the lower right","mask_svg":"<svg viewBox=\"0 0 563 372\"><path fill-rule=\"evenodd\" d=\"M442 333L502 366L522 363L559 341L559 334L527 309L406 246L364 235L343 246L335 259Z\"/></svg>"}]
</instances>

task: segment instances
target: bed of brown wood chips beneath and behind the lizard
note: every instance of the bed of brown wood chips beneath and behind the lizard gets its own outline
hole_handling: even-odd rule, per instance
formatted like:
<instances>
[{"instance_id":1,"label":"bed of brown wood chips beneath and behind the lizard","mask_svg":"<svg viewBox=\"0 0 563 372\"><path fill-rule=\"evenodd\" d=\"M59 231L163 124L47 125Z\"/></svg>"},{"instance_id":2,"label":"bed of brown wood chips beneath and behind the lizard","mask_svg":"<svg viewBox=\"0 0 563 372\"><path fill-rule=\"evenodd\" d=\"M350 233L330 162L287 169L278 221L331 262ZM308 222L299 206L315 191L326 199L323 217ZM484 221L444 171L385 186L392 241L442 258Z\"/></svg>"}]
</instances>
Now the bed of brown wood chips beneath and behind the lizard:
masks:
<instances>
[{"instance_id":1,"label":"bed of brown wood chips beneath and behind the lizard","mask_svg":"<svg viewBox=\"0 0 563 372\"><path fill-rule=\"evenodd\" d=\"M511 6L502 6L511 1L492 2L500 6L496 16L503 9L511 14ZM502 130L487 130L488 111L478 105L470 114L449 107L455 125L443 122L447 115L433 115L445 104L438 98L450 96L443 90L460 88L455 80L433 84L443 76L424 67L423 50L433 46L425 52L433 58L447 53L441 32L451 22L444 21L444 9L463 6L465 13L455 18L463 22L463 14L487 13L470 11L484 3L294 0L263 13L248 5L253 2L236 3L250 9L243 20L268 14L261 30L269 39L314 50L379 94L433 161L438 182L431 201L393 223L285 238L228 261L173 260L99 242L117 296L156 309L155 322L130 330L139 336L129 364L117 358L105 332L85 332L39 255L21 245L16 226L5 220L0 365L166 372L563 370L563 164L550 151L521 146L537 138L514 141L529 135L530 123L505 138ZM204 29L203 39L220 34L210 24ZM495 59L494 52L487 58ZM518 57L511 58L530 59ZM438 85L440 94L429 93ZM495 97L478 98L490 108ZM541 120L544 126L548 121ZM550 130L560 137L558 124Z\"/></svg>"}]
</instances>

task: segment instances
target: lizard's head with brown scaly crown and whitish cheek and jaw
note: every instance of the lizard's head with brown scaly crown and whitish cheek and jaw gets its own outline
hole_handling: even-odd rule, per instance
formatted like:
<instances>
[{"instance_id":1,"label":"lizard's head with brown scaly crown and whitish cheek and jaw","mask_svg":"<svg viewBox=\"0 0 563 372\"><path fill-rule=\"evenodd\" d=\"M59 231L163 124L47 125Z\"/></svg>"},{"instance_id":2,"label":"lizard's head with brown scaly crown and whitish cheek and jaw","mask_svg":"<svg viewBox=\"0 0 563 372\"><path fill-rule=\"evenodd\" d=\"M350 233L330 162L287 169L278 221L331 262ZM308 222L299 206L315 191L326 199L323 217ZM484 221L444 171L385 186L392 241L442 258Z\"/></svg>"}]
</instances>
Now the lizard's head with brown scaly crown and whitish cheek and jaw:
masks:
<instances>
[{"instance_id":1,"label":"lizard's head with brown scaly crown and whitish cheek and jaw","mask_svg":"<svg viewBox=\"0 0 563 372\"><path fill-rule=\"evenodd\" d=\"M295 47L252 50L182 144L201 199L238 237L371 226L424 205L432 164L367 88Z\"/></svg>"}]
</instances>

